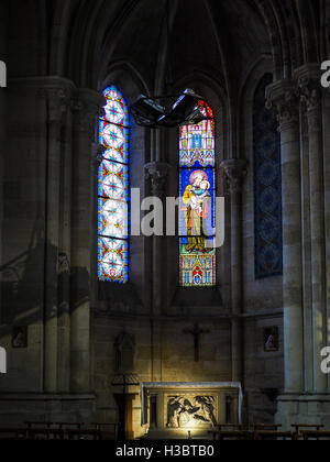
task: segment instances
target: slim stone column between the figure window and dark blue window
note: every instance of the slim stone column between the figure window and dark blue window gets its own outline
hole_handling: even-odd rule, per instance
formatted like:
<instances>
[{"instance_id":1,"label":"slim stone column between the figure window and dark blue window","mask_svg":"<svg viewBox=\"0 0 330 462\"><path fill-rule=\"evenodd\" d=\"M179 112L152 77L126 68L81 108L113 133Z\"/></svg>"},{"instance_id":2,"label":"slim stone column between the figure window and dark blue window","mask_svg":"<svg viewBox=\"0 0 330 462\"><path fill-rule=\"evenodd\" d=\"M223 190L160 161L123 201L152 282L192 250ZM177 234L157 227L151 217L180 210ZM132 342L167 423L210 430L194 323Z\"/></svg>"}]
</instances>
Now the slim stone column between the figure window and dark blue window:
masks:
<instances>
[{"instance_id":1,"label":"slim stone column between the figure window and dark blue window","mask_svg":"<svg viewBox=\"0 0 330 462\"><path fill-rule=\"evenodd\" d=\"M226 176L227 193L231 207L231 348L232 381L243 382L243 329L242 319L242 184L248 174L248 162L232 158L221 164Z\"/></svg>"}]
</instances>

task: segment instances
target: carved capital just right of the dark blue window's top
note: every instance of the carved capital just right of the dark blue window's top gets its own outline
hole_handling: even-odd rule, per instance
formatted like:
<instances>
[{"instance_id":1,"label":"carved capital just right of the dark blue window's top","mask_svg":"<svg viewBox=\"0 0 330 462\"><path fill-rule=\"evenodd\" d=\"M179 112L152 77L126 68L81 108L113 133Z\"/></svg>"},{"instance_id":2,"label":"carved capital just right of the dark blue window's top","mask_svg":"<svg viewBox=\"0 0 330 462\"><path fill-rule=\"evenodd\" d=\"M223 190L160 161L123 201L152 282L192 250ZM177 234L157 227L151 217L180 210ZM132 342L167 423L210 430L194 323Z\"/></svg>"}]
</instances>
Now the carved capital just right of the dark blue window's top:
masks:
<instances>
[{"instance_id":1,"label":"carved capital just right of the dark blue window's top","mask_svg":"<svg viewBox=\"0 0 330 462\"><path fill-rule=\"evenodd\" d=\"M276 108L279 131L289 130L299 121L299 99L297 88L292 80L279 80L266 89L266 108Z\"/></svg>"}]
</instances>

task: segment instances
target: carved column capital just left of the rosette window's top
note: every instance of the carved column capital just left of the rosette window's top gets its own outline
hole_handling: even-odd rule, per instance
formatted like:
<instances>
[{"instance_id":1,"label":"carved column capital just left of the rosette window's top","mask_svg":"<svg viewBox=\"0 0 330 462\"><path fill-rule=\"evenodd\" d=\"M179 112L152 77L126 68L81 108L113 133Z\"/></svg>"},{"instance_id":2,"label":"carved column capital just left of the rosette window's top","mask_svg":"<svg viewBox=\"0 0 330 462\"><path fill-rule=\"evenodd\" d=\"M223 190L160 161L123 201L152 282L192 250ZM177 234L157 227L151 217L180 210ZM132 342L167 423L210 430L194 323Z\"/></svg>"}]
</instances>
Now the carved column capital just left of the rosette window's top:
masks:
<instances>
[{"instance_id":1,"label":"carved column capital just left of the rosette window's top","mask_svg":"<svg viewBox=\"0 0 330 462\"><path fill-rule=\"evenodd\" d=\"M103 96L88 88L77 90L73 102L76 116L76 129L95 139L96 119L105 113L106 100Z\"/></svg>"}]
</instances>

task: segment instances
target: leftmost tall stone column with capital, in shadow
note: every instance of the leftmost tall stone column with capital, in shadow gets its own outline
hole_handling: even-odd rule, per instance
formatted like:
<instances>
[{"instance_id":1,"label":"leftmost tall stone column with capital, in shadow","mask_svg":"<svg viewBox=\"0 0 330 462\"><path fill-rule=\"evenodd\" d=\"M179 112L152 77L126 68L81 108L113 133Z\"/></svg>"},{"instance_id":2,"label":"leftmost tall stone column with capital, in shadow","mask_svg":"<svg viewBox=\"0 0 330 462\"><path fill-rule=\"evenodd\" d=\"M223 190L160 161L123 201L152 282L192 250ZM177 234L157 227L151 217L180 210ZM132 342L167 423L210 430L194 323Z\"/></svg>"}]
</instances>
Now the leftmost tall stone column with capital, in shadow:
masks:
<instances>
[{"instance_id":1,"label":"leftmost tall stone column with capital, in shadow","mask_svg":"<svg viewBox=\"0 0 330 462\"><path fill-rule=\"evenodd\" d=\"M58 381L58 266L61 209L61 152L63 116L70 103L70 88L48 79L41 90L48 113L47 190L45 227L44 392L56 393Z\"/></svg>"}]
</instances>

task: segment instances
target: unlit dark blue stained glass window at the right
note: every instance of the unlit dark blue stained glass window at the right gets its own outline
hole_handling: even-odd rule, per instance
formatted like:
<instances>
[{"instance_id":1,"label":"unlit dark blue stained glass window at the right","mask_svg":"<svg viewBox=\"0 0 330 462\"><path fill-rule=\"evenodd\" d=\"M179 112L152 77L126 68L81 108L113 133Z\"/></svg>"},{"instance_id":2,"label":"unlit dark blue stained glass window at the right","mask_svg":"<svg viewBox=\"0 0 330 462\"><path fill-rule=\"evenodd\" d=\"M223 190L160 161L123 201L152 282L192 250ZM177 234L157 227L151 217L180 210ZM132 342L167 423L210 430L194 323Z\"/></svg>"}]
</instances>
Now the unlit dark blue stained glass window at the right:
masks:
<instances>
[{"instance_id":1,"label":"unlit dark blue stained glass window at the right","mask_svg":"<svg viewBox=\"0 0 330 462\"><path fill-rule=\"evenodd\" d=\"M255 277L283 274L280 134L276 110L265 107L265 75L254 96L254 230Z\"/></svg>"}]
</instances>

